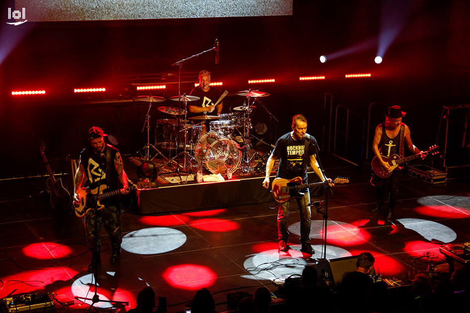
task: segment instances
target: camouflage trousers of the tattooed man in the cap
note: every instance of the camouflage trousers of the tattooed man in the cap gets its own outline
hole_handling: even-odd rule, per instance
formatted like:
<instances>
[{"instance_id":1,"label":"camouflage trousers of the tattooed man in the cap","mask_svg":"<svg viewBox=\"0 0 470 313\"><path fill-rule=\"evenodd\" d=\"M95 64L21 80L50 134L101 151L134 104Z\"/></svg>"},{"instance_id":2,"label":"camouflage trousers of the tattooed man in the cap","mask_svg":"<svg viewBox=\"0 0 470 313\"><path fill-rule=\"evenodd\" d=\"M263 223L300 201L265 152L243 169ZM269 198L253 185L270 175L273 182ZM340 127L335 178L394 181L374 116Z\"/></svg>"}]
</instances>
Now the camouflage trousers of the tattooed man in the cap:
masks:
<instances>
[{"instance_id":1,"label":"camouflage trousers of the tattooed man in the cap","mask_svg":"<svg viewBox=\"0 0 470 313\"><path fill-rule=\"evenodd\" d=\"M87 223L88 243L92 251L95 250L95 214L90 210L85 216ZM104 227L110 235L111 245L119 247L122 242L122 228L120 210L117 207L105 207L97 212L97 251L101 251L101 227Z\"/></svg>"}]
</instances>

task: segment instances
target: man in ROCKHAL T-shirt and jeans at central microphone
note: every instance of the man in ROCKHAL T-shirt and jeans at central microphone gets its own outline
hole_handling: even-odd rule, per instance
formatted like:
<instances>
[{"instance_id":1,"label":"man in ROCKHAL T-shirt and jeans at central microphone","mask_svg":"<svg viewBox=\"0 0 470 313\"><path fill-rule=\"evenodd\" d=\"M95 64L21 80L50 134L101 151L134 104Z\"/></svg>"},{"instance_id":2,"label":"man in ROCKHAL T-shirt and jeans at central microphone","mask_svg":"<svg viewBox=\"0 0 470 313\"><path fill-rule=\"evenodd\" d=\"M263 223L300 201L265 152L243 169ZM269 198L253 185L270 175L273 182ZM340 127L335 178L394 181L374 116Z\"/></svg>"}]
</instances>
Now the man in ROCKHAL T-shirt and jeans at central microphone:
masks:
<instances>
[{"instance_id":1,"label":"man in ROCKHAL T-shirt and jeans at central microphone","mask_svg":"<svg viewBox=\"0 0 470 313\"><path fill-rule=\"evenodd\" d=\"M279 169L276 177L283 179L293 179L297 176L303 178L303 184L307 184L307 165L313 168L315 174L322 181L329 181L330 186L334 184L326 178L319 168L315 153L318 151L318 144L315 137L307 134L307 119L301 114L292 118L292 131L280 137L274 150L266 163L266 177L263 181L263 187L269 188L269 176L271 175L274 162L279 160ZM301 251L306 254L314 254L310 244L310 194L309 190L303 191L302 198L296 198L300 211L300 242ZM287 251L287 239L289 231L287 230L287 217L289 216L289 201L278 204L277 229L279 239L279 250Z\"/></svg>"}]
</instances>

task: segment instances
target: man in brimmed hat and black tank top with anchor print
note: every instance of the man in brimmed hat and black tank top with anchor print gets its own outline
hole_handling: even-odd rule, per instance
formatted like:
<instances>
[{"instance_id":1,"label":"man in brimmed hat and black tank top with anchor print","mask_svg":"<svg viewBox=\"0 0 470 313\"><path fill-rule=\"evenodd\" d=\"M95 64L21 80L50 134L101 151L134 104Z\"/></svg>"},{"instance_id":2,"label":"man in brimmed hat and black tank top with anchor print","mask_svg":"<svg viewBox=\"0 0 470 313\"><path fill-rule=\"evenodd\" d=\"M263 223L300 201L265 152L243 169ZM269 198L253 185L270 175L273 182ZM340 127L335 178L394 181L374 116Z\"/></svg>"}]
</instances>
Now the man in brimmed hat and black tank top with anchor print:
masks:
<instances>
[{"instance_id":1,"label":"man in brimmed hat and black tank top with anchor print","mask_svg":"<svg viewBox=\"0 0 470 313\"><path fill-rule=\"evenodd\" d=\"M420 153L421 158L424 159L426 154L418 149L411 141L410 128L405 125L401 120L405 116L406 112L401 110L398 105L393 105L388 108L385 113L385 122L377 125L374 133L374 140L372 142L372 150L383 169L390 172L392 171L389 187L388 196L388 213L386 221L391 222L394 219L394 209L398 194L398 183L400 182L401 171L397 168L392 170L390 165L386 163L382 156L390 157L393 154L397 154L401 158L404 157L404 145L412 153ZM375 185L377 203L372 209L372 212L378 211L384 202L386 190L385 183L388 178L380 178L375 174L372 174L372 185Z\"/></svg>"}]
</instances>

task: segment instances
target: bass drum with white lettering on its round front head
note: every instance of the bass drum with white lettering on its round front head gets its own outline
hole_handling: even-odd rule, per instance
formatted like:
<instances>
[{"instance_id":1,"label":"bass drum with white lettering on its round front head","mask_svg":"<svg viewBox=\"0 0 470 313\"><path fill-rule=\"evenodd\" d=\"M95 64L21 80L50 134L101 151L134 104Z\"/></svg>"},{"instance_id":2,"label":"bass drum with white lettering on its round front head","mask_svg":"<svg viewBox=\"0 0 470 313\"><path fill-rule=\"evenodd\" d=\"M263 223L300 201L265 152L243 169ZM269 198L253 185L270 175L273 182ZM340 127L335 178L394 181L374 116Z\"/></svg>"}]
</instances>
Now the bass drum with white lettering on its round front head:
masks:
<instances>
[{"instance_id":1,"label":"bass drum with white lettering on its round front head","mask_svg":"<svg viewBox=\"0 0 470 313\"><path fill-rule=\"evenodd\" d=\"M232 173L235 172L242 158L238 144L217 132L208 132L201 137L196 145L195 155L198 162L202 161L216 175L225 175L229 169Z\"/></svg>"}]
</instances>

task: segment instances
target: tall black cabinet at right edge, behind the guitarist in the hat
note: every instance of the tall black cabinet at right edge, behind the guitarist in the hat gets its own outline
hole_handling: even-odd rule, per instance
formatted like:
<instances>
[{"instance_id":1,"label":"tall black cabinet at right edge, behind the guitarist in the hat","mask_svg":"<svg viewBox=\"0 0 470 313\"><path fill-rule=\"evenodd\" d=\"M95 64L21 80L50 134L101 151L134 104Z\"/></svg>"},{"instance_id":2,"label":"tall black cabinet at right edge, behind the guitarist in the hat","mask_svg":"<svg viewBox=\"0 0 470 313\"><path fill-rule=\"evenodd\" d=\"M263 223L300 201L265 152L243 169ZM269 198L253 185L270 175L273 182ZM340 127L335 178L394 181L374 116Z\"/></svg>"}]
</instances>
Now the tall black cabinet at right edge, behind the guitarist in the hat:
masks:
<instances>
[{"instance_id":1,"label":"tall black cabinet at right edge, behind the guitarist in the hat","mask_svg":"<svg viewBox=\"0 0 470 313\"><path fill-rule=\"evenodd\" d=\"M470 104L444 106L443 118L446 120L444 167L470 166Z\"/></svg>"}]
</instances>

